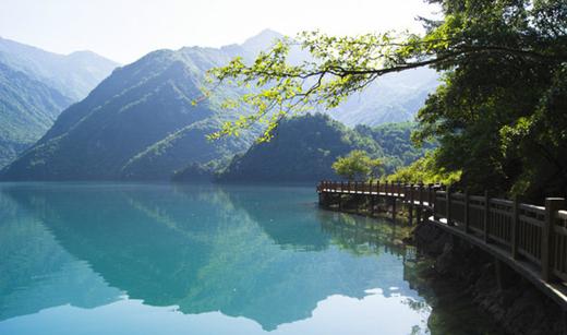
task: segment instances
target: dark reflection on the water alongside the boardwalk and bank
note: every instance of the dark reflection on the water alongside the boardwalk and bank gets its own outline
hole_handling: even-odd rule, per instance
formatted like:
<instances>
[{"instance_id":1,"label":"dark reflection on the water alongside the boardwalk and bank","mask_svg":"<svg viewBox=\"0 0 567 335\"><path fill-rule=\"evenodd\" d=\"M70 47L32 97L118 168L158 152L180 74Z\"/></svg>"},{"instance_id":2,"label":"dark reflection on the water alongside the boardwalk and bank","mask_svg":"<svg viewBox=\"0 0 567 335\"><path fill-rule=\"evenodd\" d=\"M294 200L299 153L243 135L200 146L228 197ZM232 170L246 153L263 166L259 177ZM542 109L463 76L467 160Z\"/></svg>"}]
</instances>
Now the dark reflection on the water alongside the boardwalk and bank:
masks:
<instances>
[{"instance_id":1,"label":"dark reflection on the water alongside the boardwalk and bank","mask_svg":"<svg viewBox=\"0 0 567 335\"><path fill-rule=\"evenodd\" d=\"M352 248L354 254L361 254L361 248L365 251L381 244L385 251L402 255L403 280L425 300L410 299L407 303L412 309L430 311L426 327L415 325L411 334L503 334L465 294L465 284L439 280L433 270L435 260L403 243L414 228L407 219L371 218L329 210L321 210L318 219L324 231L333 234L345 248Z\"/></svg>"}]
</instances>

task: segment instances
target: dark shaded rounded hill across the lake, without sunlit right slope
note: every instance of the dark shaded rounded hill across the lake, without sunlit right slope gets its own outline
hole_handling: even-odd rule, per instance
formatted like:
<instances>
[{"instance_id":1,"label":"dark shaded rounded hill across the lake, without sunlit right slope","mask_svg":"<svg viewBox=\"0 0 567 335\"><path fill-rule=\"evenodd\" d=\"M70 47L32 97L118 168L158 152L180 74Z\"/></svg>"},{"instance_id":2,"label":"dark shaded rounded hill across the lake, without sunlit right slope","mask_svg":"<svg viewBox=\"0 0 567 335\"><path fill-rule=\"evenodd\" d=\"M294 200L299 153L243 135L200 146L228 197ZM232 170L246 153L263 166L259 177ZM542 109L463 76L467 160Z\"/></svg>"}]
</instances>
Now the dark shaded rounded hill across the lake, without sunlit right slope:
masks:
<instances>
[{"instance_id":1,"label":"dark shaded rounded hill across the lake, without sunlit right slope","mask_svg":"<svg viewBox=\"0 0 567 335\"><path fill-rule=\"evenodd\" d=\"M354 148L377 152L373 142L327 115L284 119L273 130L275 141L256 143L217 175L218 181L310 181L336 178L335 157Z\"/></svg>"}]
</instances>

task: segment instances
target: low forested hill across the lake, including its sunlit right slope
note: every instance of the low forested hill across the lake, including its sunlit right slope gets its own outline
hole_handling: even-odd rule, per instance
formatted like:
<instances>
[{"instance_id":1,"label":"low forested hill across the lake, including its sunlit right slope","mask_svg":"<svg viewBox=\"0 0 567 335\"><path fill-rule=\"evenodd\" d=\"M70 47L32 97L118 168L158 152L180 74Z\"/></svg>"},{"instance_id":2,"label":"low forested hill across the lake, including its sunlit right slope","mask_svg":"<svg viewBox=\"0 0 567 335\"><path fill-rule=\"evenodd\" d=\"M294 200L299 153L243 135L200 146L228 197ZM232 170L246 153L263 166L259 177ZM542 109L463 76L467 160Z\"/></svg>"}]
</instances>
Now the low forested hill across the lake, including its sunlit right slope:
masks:
<instances>
[{"instance_id":1,"label":"low forested hill across the lake, including its sunlit right slope","mask_svg":"<svg viewBox=\"0 0 567 335\"><path fill-rule=\"evenodd\" d=\"M319 181L340 179L331 168L338 156L364 151L365 156L384 163L391 174L401 165L422 157L426 149L410 151L410 134L414 123L393 123L354 129L345 127L327 115L307 113L286 118L273 130L270 142L253 145L233 157L219 174L218 181Z\"/></svg>"}]
</instances>

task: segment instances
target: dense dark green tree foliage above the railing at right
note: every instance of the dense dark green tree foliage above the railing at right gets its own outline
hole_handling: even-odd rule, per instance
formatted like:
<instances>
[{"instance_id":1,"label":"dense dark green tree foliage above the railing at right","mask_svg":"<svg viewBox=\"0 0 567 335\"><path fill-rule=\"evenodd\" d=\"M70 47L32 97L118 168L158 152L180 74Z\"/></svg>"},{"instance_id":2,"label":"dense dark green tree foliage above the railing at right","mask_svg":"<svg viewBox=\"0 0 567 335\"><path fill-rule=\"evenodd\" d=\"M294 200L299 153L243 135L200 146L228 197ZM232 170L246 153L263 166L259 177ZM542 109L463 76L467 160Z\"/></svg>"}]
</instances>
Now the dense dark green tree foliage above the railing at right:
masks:
<instances>
[{"instance_id":1,"label":"dense dark green tree foliage above the railing at right","mask_svg":"<svg viewBox=\"0 0 567 335\"><path fill-rule=\"evenodd\" d=\"M419 113L418 141L439 139L435 167L461 187L533 200L567 195L566 1L449 1L430 36L485 48L439 63L444 84Z\"/></svg>"}]
</instances>

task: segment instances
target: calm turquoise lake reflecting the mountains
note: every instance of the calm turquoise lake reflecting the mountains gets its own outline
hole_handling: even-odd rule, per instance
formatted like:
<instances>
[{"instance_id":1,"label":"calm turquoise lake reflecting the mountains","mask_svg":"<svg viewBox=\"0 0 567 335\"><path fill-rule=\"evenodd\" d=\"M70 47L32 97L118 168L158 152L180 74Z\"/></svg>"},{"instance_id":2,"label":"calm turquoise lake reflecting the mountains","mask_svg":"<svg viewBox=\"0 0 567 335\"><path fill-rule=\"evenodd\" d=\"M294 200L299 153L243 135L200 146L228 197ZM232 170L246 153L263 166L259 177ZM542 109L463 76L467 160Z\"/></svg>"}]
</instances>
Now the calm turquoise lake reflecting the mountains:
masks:
<instances>
[{"instance_id":1,"label":"calm turquoise lake reflecting the mountains","mask_svg":"<svg viewBox=\"0 0 567 335\"><path fill-rule=\"evenodd\" d=\"M414 288L408 229L314 184L0 183L0 334L498 334Z\"/></svg>"}]
</instances>

